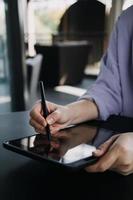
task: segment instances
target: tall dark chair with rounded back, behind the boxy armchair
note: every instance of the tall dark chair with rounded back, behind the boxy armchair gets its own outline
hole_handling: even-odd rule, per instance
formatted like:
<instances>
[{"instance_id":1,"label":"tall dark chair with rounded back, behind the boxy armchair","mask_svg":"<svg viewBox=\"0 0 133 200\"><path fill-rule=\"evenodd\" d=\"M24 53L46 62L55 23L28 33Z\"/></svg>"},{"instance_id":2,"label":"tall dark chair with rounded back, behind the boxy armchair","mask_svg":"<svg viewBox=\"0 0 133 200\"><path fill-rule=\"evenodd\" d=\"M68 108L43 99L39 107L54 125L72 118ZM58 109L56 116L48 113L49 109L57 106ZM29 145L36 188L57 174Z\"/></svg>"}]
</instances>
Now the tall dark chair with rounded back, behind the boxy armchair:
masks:
<instances>
[{"instance_id":1,"label":"tall dark chair with rounded back, behind the boxy armchair","mask_svg":"<svg viewBox=\"0 0 133 200\"><path fill-rule=\"evenodd\" d=\"M53 43L87 40L93 47L88 62L98 62L103 55L104 24L105 5L103 3L96 0L78 0L61 17L58 33L53 35Z\"/></svg>"}]
</instances>

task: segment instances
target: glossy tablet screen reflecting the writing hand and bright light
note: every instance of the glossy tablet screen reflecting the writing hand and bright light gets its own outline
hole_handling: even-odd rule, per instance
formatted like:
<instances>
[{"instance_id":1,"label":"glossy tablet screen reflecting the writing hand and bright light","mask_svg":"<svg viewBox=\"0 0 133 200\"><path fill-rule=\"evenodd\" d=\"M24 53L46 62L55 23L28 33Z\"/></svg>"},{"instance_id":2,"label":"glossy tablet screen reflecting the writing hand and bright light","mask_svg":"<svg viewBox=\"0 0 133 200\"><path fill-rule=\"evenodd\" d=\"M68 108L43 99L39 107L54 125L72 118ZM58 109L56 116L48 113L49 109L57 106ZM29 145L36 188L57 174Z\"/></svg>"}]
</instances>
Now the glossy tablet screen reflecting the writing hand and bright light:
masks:
<instances>
[{"instance_id":1,"label":"glossy tablet screen reflecting the writing hand and bright light","mask_svg":"<svg viewBox=\"0 0 133 200\"><path fill-rule=\"evenodd\" d=\"M43 158L59 163L72 163L92 156L101 143L112 135L112 131L88 125L79 125L61 130L52 136L51 142L46 135L37 134L11 141L12 145L30 151Z\"/></svg>"}]
</instances>

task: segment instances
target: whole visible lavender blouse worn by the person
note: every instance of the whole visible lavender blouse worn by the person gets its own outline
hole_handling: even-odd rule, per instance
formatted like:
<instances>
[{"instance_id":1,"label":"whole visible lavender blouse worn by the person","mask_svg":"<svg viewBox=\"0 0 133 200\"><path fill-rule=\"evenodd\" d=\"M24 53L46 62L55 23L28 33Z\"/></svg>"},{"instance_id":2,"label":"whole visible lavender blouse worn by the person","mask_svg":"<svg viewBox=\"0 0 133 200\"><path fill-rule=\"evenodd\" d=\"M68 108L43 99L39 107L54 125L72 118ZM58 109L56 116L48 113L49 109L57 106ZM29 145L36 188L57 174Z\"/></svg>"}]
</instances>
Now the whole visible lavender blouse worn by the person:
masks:
<instances>
[{"instance_id":1,"label":"whole visible lavender blouse worn by the person","mask_svg":"<svg viewBox=\"0 0 133 200\"><path fill-rule=\"evenodd\" d=\"M100 74L80 99L90 98L103 120L112 114L133 117L133 6L119 17Z\"/></svg>"}]
</instances>

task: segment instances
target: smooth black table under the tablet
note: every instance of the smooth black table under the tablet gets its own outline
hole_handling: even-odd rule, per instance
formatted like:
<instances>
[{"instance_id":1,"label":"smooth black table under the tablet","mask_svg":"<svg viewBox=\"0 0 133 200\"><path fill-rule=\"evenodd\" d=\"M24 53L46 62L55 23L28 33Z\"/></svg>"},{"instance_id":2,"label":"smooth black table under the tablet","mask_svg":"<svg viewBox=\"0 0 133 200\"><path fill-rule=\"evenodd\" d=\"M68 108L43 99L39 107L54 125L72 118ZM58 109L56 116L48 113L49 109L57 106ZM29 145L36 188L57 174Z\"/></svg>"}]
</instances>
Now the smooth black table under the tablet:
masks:
<instances>
[{"instance_id":1,"label":"smooth black table under the tablet","mask_svg":"<svg viewBox=\"0 0 133 200\"><path fill-rule=\"evenodd\" d=\"M133 199L133 175L70 172L4 149L4 140L33 134L28 118L28 112L0 115L0 200ZM107 122L91 123L114 130L133 130L133 119L129 118L113 117Z\"/></svg>"}]
</instances>

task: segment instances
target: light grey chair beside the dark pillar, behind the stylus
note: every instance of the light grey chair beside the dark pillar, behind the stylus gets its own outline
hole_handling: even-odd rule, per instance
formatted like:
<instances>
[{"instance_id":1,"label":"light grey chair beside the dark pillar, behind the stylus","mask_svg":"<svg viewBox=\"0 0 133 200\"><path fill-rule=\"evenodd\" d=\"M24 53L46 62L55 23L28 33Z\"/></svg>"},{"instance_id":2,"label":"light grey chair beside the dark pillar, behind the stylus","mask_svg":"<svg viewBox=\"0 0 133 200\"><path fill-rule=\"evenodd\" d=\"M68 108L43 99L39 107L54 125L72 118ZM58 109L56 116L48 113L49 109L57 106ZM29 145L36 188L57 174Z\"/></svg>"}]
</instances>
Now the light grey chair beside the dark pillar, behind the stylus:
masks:
<instances>
[{"instance_id":1,"label":"light grey chair beside the dark pillar, behind the stylus","mask_svg":"<svg viewBox=\"0 0 133 200\"><path fill-rule=\"evenodd\" d=\"M29 91L29 105L33 104L37 99L37 89L40 70L42 66L43 56L37 54L33 58L26 59L27 75L28 75L28 91Z\"/></svg>"}]
</instances>

